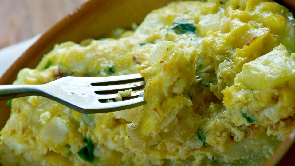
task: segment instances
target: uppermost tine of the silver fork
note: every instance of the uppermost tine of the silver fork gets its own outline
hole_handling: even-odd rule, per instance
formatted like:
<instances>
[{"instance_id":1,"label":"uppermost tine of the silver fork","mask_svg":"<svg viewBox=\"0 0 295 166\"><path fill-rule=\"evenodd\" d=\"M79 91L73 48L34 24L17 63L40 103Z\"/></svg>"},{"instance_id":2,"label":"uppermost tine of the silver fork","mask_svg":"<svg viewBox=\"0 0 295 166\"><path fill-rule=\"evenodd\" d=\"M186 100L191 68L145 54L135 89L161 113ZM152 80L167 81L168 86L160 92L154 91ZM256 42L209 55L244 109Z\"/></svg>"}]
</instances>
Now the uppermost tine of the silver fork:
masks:
<instances>
[{"instance_id":1,"label":"uppermost tine of the silver fork","mask_svg":"<svg viewBox=\"0 0 295 166\"><path fill-rule=\"evenodd\" d=\"M91 85L92 86L118 85L118 84L132 83L136 81L144 81L144 78L140 74L97 77L96 79L93 80Z\"/></svg>"}]
</instances>

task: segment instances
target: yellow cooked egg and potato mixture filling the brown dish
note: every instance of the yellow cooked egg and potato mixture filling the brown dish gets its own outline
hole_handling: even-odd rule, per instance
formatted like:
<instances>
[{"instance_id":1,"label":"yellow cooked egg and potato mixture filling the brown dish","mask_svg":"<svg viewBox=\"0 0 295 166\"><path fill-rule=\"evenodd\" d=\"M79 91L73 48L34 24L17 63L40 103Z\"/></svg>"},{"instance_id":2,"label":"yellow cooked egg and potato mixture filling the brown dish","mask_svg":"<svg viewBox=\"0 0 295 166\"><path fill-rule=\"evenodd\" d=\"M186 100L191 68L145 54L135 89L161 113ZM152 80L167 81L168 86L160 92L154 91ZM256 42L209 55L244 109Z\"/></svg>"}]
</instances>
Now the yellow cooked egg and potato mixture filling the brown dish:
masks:
<instances>
[{"instance_id":1,"label":"yellow cooked egg and potato mixture filling the brown dish","mask_svg":"<svg viewBox=\"0 0 295 166\"><path fill-rule=\"evenodd\" d=\"M292 13L265 0L173 2L119 39L57 44L14 84L140 73L147 104L81 114L13 99L1 163L263 165L295 124L294 51Z\"/></svg>"}]
</instances>

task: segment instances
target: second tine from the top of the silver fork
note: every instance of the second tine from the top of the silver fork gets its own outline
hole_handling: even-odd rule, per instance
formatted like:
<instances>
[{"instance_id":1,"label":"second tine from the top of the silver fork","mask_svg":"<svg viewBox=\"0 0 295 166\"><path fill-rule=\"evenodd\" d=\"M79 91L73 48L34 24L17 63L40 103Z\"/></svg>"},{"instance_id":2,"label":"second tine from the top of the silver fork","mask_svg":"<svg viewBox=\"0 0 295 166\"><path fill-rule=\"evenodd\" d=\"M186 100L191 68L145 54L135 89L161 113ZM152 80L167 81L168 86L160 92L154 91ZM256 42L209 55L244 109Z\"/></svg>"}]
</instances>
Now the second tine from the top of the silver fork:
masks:
<instances>
[{"instance_id":1,"label":"second tine from the top of the silver fork","mask_svg":"<svg viewBox=\"0 0 295 166\"><path fill-rule=\"evenodd\" d=\"M118 91L124 91L128 89L139 90L142 89L145 85L144 81L134 82L131 84L123 84L123 85L109 85L109 86L99 86L97 87L95 93L96 94L114 94L118 93Z\"/></svg>"}]
</instances>

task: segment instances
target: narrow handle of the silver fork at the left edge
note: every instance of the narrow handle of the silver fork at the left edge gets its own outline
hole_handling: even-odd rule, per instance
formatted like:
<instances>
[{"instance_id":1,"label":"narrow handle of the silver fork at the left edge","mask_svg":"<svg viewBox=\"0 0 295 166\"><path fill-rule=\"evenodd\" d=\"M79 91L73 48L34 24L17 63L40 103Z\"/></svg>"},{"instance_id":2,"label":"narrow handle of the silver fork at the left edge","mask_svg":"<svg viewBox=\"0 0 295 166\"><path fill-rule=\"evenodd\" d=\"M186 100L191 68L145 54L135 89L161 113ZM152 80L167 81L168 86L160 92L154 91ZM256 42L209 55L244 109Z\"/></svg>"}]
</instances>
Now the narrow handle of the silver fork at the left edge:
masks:
<instances>
[{"instance_id":1,"label":"narrow handle of the silver fork at the left edge","mask_svg":"<svg viewBox=\"0 0 295 166\"><path fill-rule=\"evenodd\" d=\"M0 85L0 100L41 94L39 85Z\"/></svg>"}]
</instances>

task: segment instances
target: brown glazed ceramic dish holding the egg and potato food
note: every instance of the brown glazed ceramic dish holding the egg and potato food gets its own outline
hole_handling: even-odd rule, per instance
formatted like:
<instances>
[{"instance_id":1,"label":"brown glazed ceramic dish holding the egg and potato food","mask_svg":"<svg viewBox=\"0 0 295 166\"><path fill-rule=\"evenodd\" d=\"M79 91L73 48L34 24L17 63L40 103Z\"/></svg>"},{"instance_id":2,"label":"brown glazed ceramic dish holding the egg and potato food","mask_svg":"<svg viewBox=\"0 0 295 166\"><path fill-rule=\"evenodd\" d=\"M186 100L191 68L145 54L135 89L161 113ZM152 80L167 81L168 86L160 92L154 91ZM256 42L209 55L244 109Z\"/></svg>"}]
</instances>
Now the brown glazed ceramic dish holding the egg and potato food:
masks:
<instances>
[{"instance_id":1,"label":"brown glazed ceramic dish holding the egg and potato food","mask_svg":"<svg viewBox=\"0 0 295 166\"><path fill-rule=\"evenodd\" d=\"M35 68L44 54L53 49L56 43L65 41L79 42L85 38L101 38L112 30L122 27L131 28L133 22L140 24L153 9L165 6L173 0L89 0L66 15L36 41L0 78L0 85L12 84L20 69ZM295 11L295 1L276 1ZM140 9L140 10L139 10ZM7 101L0 101L0 129L5 125L10 106ZM265 166L294 165L295 126L289 136L282 142L277 152Z\"/></svg>"}]
</instances>

